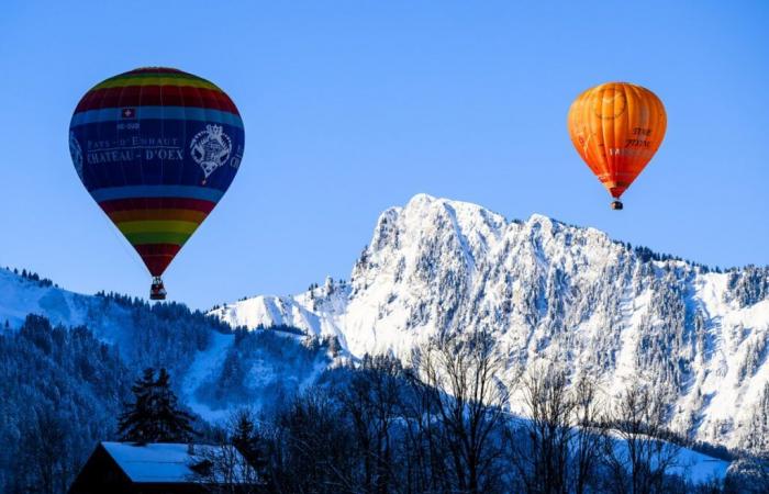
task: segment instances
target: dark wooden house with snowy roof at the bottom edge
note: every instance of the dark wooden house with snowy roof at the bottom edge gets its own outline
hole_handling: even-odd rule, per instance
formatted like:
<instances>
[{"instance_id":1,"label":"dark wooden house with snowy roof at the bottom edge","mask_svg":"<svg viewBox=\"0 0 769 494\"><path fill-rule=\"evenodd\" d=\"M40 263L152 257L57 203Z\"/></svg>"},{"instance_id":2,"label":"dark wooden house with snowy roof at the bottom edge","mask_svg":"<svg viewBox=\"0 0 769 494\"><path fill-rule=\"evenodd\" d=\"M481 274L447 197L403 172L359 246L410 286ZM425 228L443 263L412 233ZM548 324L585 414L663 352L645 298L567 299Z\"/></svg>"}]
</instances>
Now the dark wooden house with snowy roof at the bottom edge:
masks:
<instances>
[{"instance_id":1,"label":"dark wooden house with snowy roof at the bottom edge","mask_svg":"<svg viewBox=\"0 0 769 494\"><path fill-rule=\"evenodd\" d=\"M218 462L214 468L213 462ZM226 463L222 469L219 462ZM222 470L229 472L220 473ZM100 442L69 494L202 494L211 484L257 492L250 468L232 447Z\"/></svg>"}]
</instances>

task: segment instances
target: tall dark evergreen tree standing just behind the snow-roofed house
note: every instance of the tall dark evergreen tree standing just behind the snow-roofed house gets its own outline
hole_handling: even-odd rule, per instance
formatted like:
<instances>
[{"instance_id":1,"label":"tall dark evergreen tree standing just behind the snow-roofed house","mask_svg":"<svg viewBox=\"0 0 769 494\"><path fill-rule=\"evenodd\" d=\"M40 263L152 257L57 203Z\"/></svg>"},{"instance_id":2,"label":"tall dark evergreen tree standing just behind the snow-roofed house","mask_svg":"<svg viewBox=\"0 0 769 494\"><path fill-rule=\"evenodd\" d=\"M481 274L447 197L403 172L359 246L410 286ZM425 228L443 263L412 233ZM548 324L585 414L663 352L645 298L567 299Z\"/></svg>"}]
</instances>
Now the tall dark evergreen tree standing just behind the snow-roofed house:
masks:
<instances>
[{"instance_id":1,"label":"tall dark evergreen tree standing just behind the snow-roofed house","mask_svg":"<svg viewBox=\"0 0 769 494\"><path fill-rule=\"evenodd\" d=\"M166 369L155 379L154 369L144 374L131 389L135 401L120 416L119 434L122 440L136 442L187 442L193 433L192 416L178 407Z\"/></svg>"}]
</instances>

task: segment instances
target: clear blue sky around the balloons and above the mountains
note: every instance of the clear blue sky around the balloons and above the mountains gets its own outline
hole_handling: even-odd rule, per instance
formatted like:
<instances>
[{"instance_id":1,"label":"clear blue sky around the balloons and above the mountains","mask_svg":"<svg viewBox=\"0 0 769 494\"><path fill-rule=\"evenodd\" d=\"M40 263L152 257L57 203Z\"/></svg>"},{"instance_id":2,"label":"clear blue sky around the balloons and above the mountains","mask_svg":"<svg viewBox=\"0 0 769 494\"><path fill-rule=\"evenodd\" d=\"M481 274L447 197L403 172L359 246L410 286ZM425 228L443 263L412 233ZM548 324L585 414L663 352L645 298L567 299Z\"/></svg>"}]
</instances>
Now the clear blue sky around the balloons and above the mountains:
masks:
<instances>
[{"instance_id":1,"label":"clear blue sky around the balloons and above the mountains","mask_svg":"<svg viewBox=\"0 0 769 494\"><path fill-rule=\"evenodd\" d=\"M419 192L769 263L769 3L517 3L5 2L0 265L146 295L67 128L91 86L149 65L216 82L246 125L238 176L165 276L194 307L348 278L378 214ZM566 131L572 99L611 80L668 112L622 213Z\"/></svg>"}]
</instances>

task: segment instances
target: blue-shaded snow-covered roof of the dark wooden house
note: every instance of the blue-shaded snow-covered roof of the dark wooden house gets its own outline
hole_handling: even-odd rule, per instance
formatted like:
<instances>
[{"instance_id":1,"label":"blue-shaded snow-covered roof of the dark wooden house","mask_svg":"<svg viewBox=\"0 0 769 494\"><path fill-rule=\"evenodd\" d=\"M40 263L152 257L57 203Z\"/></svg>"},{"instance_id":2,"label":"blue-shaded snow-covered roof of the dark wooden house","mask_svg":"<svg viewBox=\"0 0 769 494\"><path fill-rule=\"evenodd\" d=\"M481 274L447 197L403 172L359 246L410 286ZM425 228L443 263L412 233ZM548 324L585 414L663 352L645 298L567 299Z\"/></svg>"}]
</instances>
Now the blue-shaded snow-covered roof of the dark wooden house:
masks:
<instances>
[{"instance_id":1,"label":"blue-shaded snow-covered roof of the dark wooden house","mask_svg":"<svg viewBox=\"0 0 769 494\"><path fill-rule=\"evenodd\" d=\"M204 458L218 457L222 450L219 446L194 445L194 454L190 456L186 444L145 444L102 442L107 452L114 459L132 482L172 482L186 483L194 480L190 465ZM245 460L236 450L237 463Z\"/></svg>"}]
</instances>

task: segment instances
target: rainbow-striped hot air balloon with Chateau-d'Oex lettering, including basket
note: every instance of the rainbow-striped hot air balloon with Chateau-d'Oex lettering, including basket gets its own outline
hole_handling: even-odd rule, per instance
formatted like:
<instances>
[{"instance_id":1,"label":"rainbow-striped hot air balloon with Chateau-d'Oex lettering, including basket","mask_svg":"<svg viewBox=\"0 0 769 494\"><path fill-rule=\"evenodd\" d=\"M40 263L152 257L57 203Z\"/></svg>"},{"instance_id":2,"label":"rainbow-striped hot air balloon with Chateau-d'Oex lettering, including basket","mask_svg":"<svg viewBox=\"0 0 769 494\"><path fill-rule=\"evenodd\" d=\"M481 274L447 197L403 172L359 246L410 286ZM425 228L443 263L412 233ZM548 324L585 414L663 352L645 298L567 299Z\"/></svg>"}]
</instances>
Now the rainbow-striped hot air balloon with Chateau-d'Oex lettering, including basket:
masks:
<instances>
[{"instance_id":1,"label":"rainbow-striped hot air balloon with Chateau-d'Oex lettering, including basket","mask_svg":"<svg viewBox=\"0 0 769 494\"><path fill-rule=\"evenodd\" d=\"M160 276L224 195L244 145L230 97L181 70L131 70L78 103L69 125L75 169L142 257L152 299L165 297Z\"/></svg>"}]
</instances>

